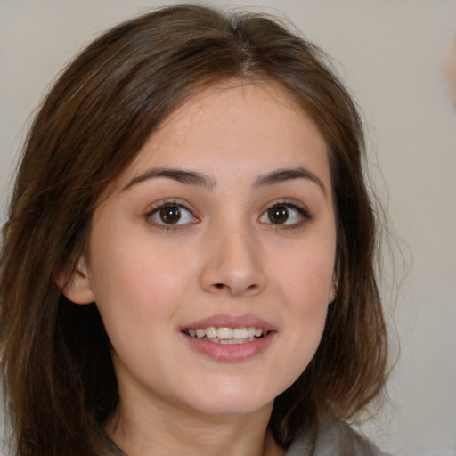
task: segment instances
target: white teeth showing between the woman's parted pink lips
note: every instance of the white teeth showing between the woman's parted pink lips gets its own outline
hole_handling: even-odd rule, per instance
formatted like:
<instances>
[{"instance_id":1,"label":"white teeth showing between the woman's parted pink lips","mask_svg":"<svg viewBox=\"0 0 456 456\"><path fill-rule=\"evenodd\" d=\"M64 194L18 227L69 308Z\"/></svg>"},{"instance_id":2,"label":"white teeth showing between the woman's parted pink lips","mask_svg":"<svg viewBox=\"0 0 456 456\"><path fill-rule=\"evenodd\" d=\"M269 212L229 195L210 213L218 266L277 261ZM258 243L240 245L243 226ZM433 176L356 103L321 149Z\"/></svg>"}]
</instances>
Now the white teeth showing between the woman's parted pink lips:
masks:
<instances>
[{"instance_id":1,"label":"white teeth showing between the woman's parted pink lips","mask_svg":"<svg viewBox=\"0 0 456 456\"><path fill-rule=\"evenodd\" d=\"M186 329L183 333L191 338L200 338L216 344L246 344L259 338L265 338L269 331L254 326L226 328L209 326L208 328Z\"/></svg>"}]
</instances>

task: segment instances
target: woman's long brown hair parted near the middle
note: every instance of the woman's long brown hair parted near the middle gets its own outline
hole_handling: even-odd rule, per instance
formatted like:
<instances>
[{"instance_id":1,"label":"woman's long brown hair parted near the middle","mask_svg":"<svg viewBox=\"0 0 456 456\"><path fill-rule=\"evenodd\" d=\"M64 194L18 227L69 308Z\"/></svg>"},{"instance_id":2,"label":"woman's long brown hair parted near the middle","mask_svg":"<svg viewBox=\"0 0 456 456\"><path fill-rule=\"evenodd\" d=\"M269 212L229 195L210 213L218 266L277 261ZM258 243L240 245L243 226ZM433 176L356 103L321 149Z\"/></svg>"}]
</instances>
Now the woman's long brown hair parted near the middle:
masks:
<instances>
[{"instance_id":1,"label":"woman's long brown hair parted near the middle","mask_svg":"<svg viewBox=\"0 0 456 456\"><path fill-rule=\"evenodd\" d=\"M1 362L18 454L104 454L102 426L118 403L110 341L96 305L70 303L55 276L75 268L102 191L160 122L200 88L232 78L273 81L314 119L337 212L338 295L314 360L275 400L273 435L287 446L297 428L322 415L349 419L381 392L387 336L354 103L325 55L278 20L177 5L89 45L28 133L0 265Z\"/></svg>"}]
</instances>

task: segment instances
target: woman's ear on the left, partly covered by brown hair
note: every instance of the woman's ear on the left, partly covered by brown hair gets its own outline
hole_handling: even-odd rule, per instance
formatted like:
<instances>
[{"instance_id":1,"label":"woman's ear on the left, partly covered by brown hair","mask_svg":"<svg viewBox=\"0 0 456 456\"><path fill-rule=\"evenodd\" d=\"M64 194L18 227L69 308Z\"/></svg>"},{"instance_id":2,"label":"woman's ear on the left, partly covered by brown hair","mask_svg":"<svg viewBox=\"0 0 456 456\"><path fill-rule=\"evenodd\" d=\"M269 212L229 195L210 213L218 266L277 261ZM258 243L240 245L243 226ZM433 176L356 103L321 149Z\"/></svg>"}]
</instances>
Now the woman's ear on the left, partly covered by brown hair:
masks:
<instances>
[{"instance_id":1,"label":"woman's ear on the left, partly covered by brown hair","mask_svg":"<svg viewBox=\"0 0 456 456\"><path fill-rule=\"evenodd\" d=\"M94 293L84 257L79 258L73 270L62 268L61 272L56 274L55 281L70 301L81 305L94 302Z\"/></svg>"}]
</instances>

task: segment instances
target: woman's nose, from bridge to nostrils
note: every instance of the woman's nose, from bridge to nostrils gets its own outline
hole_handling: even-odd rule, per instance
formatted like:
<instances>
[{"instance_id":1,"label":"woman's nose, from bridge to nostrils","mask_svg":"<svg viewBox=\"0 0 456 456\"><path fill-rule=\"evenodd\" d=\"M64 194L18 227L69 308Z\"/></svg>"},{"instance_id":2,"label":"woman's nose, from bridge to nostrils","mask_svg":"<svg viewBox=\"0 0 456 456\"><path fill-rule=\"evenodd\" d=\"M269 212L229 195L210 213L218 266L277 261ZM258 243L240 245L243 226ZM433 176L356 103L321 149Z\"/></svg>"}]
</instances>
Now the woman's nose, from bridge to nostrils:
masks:
<instances>
[{"instance_id":1,"label":"woman's nose, from bridge to nostrils","mask_svg":"<svg viewBox=\"0 0 456 456\"><path fill-rule=\"evenodd\" d=\"M201 287L232 297L261 293L265 288L265 270L255 234L248 227L215 231L205 243Z\"/></svg>"}]
</instances>

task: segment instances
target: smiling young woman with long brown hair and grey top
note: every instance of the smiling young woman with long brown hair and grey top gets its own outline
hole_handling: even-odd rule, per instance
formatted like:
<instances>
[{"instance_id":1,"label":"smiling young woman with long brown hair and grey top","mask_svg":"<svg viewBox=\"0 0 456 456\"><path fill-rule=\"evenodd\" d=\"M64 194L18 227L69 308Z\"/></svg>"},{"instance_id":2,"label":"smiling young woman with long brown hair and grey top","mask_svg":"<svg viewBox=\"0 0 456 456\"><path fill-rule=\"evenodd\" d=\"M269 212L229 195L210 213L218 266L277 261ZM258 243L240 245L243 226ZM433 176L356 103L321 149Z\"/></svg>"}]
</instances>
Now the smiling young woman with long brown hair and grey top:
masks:
<instances>
[{"instance_id":1,"label":"smiling young woman with long brown hair and grey top","mask_svg":"<svg viewBox=\"0 0 456 456\"><path fill-rule=\"evenodd\" d=\"M183 5L61 75L4 226L17 454L380 454L344 424L387 337L362 125L324 61Z\"/></svg>"}]
</instances>

